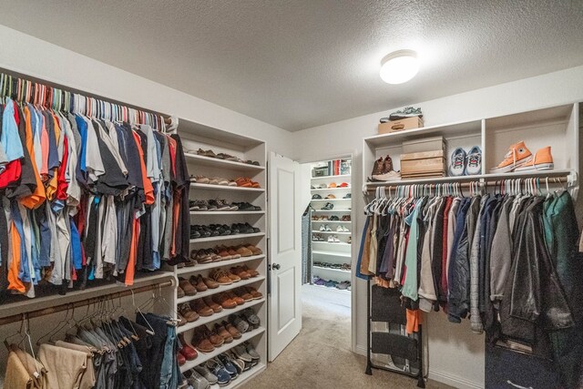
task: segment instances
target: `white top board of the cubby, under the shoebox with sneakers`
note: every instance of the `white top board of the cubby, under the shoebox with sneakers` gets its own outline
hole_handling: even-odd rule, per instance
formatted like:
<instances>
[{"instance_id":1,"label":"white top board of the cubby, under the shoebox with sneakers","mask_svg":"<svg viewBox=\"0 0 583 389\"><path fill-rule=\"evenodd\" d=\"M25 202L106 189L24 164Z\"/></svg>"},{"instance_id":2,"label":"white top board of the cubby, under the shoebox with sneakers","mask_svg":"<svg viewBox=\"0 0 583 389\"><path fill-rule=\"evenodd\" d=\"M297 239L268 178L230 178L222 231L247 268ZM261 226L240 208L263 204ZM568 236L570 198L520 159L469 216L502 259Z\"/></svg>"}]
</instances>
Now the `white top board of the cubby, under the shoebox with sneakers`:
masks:
<instances>
[{"instance_id":1,"label":"white top board of the cubby, under the shoebox with sneakers","mask_svg":"<svg viewBox=\"0 0 583 389\"><path fill-rule=\"evenodd\" d=\"M422 128L406 129L404 131L390 132L388 134L375 135L364 138L364 141L373 146L387 146L403 142L404 140L425 138L429 135L442 135L444 138L452 136L480 135L482 131L482 120L464 121L440 126L430 126Z\"/></svg>"}]
</instances>

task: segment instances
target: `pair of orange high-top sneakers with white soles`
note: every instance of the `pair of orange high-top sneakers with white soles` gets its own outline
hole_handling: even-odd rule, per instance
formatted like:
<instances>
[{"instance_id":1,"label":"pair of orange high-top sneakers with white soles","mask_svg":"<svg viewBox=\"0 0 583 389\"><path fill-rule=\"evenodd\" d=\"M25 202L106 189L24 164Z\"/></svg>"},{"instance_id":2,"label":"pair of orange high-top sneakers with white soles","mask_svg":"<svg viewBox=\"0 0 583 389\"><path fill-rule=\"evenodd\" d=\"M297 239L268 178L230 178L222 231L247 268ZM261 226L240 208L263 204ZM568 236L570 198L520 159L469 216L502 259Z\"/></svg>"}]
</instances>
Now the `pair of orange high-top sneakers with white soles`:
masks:
<instances>
[{"instance_id":1,"label":"pair of orange high-top sneakers with white soles","mask_svg":"<svg viewBox=\"0 0 583 389\"><path fill-rule=\"evenodd\" d=\"M540 148L534 155L520 141L508 148L508 152L502 162L490 173L508 173L511 171L551 170L555 168L550 146Z\"/></svg>"}]
</instances>

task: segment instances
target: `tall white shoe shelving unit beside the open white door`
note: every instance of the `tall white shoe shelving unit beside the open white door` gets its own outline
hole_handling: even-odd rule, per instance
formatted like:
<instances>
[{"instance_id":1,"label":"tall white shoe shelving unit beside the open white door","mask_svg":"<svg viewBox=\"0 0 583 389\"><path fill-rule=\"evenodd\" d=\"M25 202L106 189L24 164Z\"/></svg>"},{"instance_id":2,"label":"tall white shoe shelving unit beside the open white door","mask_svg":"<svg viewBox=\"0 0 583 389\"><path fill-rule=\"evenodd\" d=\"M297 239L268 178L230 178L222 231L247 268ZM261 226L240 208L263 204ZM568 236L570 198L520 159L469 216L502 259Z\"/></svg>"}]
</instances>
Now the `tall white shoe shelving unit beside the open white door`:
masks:
<instances>
[{"instance_id":1,"label":"tall white shoe shelving unit beside the open white door","mask_svg":"<svg viewBox=\"0 0 583 389\"><path fill-rule=\"evenodd\" d=\"M204 176L208 178L222 177L225 179L238 179L240 177L247 177L260 184L261 188L242 188L226 185L211 185L201 183L191 183L189 200L212 200L221 199L228 202L249 202L254 206L261 207L261 210L207 210L207 211L190 211L190 224L195 225L210 225L210 224L227 224L246 223L251 226L259 228L260 232L236 234L226 236L216 236L208 238L191 239L189 241L190 250L198 251L200 249L212 249L216 246L225 245L239 246L240 244L252 244L261 249L261 255L252 255L249 257L241 257L235 260L215 261L210 263L199 263L192 267L184 267L181 269L174 269L174 276L184 279L189 279L190 276L202 274L208 277L210 271L217 268L229 270L233 266L246 265L251 269L259 271L260 275L249 280L241 280L240 282L233 282L230 285L221 285L216 289L209 289L205 292L198 292L194 296L185 296L176 298L175 302L177 308L180 304L193 302L194 300L213 296L217 293L233 291L241 286L252 286L256 288L263 298L260 300L252 300L237 306L234 309L223 309L222 312L214 313L208 317L200 317L195 322L178 328L178 333L184 334L185 340L190 342L192 339L192 331L200 325L208 325L211 328L215 322L228 320L230 314L237 314L245 309L251 308L260 318L260 328L249 333L243 333L239 340L231 343L225 343L217 348L212 353L200 353L199 356L189 361L183 366L180 366L181 372L186 372L196 365L206 363L211 358L214 358L219 353L223 353L230 348L249 341L253 344L257 352L261 356L261 362L253 367L250 371L241 374L240 377L227 387L235 387L247 381L255 374L261 373L266 368L267 363L267 332L265 326L267 325L267 177L266 177L266 148L265 143L261 140L242 137L238 134L233 134L227 131L222 131L216 128L209 128L206 126L191 123L185 120L180 121L179 130L185 130L185 133L180 133L183 138L184 148L187 152L186 160L189 167L189 174L191 176ZM226 159L210 158L200 156L197 154L199 148L203 150L211 149L215 154L225 153L230 156L237 157L243 161L252 160L259 162L259 166L249 163L241 163L230 161Z\"/></svg>"}]
</instances>

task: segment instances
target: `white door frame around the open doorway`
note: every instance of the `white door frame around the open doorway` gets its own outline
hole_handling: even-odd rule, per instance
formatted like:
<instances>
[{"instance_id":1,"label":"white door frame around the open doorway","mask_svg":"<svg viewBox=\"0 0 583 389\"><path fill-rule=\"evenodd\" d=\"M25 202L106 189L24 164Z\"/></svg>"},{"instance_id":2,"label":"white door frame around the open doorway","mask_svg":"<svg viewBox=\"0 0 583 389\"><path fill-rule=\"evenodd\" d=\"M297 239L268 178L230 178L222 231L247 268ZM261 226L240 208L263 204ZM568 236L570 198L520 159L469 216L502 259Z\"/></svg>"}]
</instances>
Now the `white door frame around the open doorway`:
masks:
<instances>
[{"instance_id":1,"label":"white door frame around the open doorway","mask_svg":"<svg viewBox=\"0 0 583 389\"><path fill-rule=\"evenodd\" d=\"M360 238L358 235L358 231L360 230L358 227L358 223L356 218L354 218L355 213L354 213L354 194L359 194L361 193L360 190L354 190L355 188L359 188L360 189L360 185L356 184L356 178L359 175L355 175L354 172L358 172L360 171L360 169L355 169L354 168L354 156L357 154L356 150L353 151L349 151L349 152L339 152L339 153L334 153L334 154L325 154L322 155L322 157L318 157L317 159L314 158L310 158L310 159L300 159L298 162L303 165L306 163L315 163L315 162L322 162L322 160L330 160L330 159L351 159L351 170L350 170L350 181L351 181L351 200L350 200L350 220L352 220L353 224L352 224L352 229L353 231L356 232L356 235L353 233L352 235L352 240L353 240L353 244L351 244L351 258L356 258L358 256L358 249L356 249L356 244L359 243L358 242L358 238ZM357 186L358 185L358 186ZM311 234L312 236L312 234ZM353 269L356 269L356 263L353 263ZM357 345L356 345L356 281L358 279L356 278L356 272L355 271L351 271L350 274L350 283L352 285L351 287L351 295L350 295L350 337L351 337L351 351L353 353L359 353L359 351L357 350Z\"/></svg>"}]
</instances>

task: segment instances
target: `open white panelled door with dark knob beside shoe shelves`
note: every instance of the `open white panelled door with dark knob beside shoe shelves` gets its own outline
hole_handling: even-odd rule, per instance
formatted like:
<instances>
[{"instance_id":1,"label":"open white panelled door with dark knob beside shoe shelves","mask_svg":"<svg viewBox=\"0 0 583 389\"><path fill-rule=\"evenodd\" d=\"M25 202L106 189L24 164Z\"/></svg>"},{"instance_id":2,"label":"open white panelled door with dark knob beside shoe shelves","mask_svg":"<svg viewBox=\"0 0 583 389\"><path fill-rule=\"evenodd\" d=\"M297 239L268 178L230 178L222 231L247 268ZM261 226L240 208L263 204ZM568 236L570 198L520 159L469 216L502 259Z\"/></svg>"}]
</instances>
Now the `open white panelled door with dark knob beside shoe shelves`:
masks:
<instances>
[{"instance_id":1,"label":"open white panelled door with dark knob beside shoe shelves","mask_svg":"<svg viewBox=\"0 0 583 389\"><path fill-rule=\"evenodd\" d=\"M302 329L302 214L300 164L270 153L269 360Z\"/></svg>"}]
</instances>

